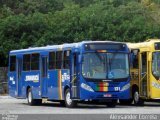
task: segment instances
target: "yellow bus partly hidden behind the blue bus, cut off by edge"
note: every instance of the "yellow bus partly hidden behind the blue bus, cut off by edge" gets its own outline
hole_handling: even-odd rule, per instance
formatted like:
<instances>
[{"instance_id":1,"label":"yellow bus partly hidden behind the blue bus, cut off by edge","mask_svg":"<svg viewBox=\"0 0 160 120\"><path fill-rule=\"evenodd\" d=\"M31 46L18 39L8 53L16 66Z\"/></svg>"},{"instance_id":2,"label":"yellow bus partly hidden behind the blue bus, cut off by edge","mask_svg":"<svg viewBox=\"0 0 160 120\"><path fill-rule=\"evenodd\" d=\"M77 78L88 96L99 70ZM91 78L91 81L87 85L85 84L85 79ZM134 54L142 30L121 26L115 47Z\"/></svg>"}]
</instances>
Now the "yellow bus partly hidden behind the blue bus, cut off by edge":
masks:
<instances>
[{"instance_id":1,"label":"yellow bus partly hidden behind the blue bus, cut off by edge","mask_svg":"<svg viewBox=\"0 0 160 120\"><path fill-rule=\"evenodd\" d=\"M160 40L128 44L132 53L131 96L135 105L160 101Z\"/></svg>"}]
</instances>

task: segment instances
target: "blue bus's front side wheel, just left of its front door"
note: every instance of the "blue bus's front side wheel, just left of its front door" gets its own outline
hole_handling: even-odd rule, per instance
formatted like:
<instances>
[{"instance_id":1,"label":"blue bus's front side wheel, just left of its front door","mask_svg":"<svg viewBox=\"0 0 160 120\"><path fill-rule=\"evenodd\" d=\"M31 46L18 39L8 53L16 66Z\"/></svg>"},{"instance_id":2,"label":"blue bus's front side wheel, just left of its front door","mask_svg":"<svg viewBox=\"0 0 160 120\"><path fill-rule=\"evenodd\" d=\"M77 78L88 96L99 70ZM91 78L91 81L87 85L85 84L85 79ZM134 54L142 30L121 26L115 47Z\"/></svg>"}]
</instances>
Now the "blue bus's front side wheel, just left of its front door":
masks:
<instances>
[{"instance_id":1,"label":"blue bus's front side wheel, just left of its front door","mask_svg":"<svg viewBox=\"0 0 160 120\"><path fill-rule=\"evenodd\" d=\"M70 98L70 90L67 89L65 91L65 105L66 107L68 108L73 108L77 105L77 102L76 101L73 101L71 98Z\"/></svg>"}]
</instances>

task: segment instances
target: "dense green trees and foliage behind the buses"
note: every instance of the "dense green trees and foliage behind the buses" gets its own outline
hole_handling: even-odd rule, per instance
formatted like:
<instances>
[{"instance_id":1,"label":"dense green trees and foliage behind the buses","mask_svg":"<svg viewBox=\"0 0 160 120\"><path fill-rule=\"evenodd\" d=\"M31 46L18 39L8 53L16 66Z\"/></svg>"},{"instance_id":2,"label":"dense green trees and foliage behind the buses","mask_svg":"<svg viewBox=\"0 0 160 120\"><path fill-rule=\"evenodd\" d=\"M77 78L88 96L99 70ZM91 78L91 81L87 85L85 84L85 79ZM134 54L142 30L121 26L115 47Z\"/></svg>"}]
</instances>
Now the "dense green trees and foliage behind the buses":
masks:
<instances>
[{"instance_id":1,"label":"dense green trees and foliage behind the buses","mask_svg":"<svg viewBox=\"0 0 160 120\"><path fill-rule=\"evenodd\" d=\"M148 38L160 38L159 0L0 0L0 66L14 49Z\"/></svg>"}]
</instances>

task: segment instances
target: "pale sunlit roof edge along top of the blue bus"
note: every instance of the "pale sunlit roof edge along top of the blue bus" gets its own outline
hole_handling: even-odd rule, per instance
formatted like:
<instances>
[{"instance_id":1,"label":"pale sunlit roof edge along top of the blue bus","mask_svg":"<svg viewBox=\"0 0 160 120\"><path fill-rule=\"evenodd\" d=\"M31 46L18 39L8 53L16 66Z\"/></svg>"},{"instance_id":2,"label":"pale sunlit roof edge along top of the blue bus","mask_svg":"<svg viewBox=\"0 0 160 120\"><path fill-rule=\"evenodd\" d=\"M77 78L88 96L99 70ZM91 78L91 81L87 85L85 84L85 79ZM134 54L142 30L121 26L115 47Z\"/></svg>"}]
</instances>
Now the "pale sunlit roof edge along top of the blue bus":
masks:
<instances>
[{"instance_id":1,"label":"pale sunlit roof edge along top of the blue bus","mask_svg":"<svg viewBox=\"0 0 160 120\"><path fill-rule=\"evenodd\" d=\"M19 53L19 52L31 52L31 51L42 51L42 50L52 50L52 49L63 49L63 48L79 48L86 43L123 43L115 41L82 41L78 43L64 43L61 45L47 45L44 47L29 47L27 49L12 50L10 53ZM123 43L125 44L125 43Z\"/></svg>"}]
</instances>

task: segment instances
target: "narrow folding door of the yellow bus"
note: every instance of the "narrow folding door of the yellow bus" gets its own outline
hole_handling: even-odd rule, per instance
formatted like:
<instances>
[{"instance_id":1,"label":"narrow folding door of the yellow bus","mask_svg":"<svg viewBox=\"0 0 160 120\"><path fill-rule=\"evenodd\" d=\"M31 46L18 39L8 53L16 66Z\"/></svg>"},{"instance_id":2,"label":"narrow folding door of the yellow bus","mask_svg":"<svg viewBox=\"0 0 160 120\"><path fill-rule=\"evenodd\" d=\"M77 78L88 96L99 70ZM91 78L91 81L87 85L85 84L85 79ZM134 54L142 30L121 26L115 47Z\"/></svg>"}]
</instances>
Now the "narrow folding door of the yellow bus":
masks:
<instances>
[{"instance_id":1,"label":"narrow folding door of the yellow bus","mask_svg":"<svg viewBox=\"0 0 160 120\"><path fill-rule=\"evenodd\" d=\"M147 52L140 54L140 96L147 97L147 80L148 80L148 62L147 62Z\"/></svg>"}]
</instances>

